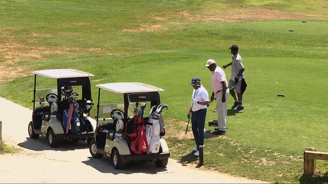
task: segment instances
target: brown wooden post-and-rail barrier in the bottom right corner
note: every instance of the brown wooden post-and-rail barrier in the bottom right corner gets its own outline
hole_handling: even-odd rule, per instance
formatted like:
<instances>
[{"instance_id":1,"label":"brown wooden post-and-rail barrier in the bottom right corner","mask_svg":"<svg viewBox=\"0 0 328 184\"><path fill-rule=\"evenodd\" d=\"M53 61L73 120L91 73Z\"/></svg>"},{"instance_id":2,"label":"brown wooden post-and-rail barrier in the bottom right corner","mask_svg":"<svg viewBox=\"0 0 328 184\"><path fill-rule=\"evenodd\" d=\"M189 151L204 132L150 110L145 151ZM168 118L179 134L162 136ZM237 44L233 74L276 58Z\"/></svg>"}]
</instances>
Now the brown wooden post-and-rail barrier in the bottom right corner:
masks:
<instances>
[{"instance_id":1,"label":"brown wooden post-and-rail barrier in the bottom right corner","mask_svg":"<svg viewBox=\"0 0 328 184\"><path fill-rule=\"evenodd\" d=\"M328 160L328 153L318 152L315 148L306 148L304 150L304 176L313 175L315 160Z\"/></svg>"}]
</instances>

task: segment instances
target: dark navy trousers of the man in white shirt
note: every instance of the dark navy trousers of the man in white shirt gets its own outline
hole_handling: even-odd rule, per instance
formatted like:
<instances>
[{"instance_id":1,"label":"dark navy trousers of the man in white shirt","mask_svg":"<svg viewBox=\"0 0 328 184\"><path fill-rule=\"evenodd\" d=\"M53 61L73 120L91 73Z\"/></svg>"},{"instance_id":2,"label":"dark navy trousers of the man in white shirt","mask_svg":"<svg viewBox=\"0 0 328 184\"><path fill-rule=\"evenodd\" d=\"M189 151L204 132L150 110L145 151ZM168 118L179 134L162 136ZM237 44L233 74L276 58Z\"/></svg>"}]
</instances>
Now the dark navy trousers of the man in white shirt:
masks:
<instances>
[{"instance_id":1,"label":"dark navy trousers of the man in white shirt","mask_svg":"<svg viewBox=\"0 0 328 184\"><path fill-rule=\"evenodd\" d=\"M204 145L204 126L206 112L206 108L191 112L192 133L195 138L197 150L200 145Z\"/></svg>"}]
</instances>

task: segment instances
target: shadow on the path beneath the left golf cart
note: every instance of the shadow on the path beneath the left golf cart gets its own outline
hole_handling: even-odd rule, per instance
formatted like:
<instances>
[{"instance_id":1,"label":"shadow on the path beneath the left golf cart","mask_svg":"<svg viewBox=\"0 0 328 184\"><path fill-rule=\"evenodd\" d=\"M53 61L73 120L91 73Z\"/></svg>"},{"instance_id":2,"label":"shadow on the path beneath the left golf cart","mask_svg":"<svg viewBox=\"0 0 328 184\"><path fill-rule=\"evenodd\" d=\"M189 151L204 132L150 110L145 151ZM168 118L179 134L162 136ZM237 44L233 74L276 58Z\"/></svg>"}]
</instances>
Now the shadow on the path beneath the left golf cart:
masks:
<instances>
[{"instance_id":1,"label":"shadow on the path beneath the left golf cart","mask_svg":"<svg viewBox=\"0 0 328 184\"><path fill-rule=\"evenodd\" d=\"M30 137L27 137L26 141L19 143L18 146L34 151L69 151L89 148L89 145L86 141L78 141L77 143L72 141L61 141L58 148L52 148L50 147L48 140L42 136L40 136L38 139L31 139Z\"/></svg>"}]
</instances>

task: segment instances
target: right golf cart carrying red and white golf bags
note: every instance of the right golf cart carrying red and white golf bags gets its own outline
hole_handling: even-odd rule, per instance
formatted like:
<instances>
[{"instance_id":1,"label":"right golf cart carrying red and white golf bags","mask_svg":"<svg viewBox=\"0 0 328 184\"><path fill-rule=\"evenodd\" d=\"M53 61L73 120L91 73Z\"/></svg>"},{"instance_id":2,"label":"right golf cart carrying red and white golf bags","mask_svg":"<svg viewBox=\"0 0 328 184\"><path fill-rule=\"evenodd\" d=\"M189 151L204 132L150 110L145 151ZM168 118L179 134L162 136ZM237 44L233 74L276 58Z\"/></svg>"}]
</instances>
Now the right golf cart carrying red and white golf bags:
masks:
<instances>
[{"instance_id":1,"label":"right golf cart carrying red and white golf bags","mask_svg":"<svg viewBox=\"0 0 328 184\"><path fill-rule=\"evenodd\" d=\"M97 87L97 128L95 139L89 145L91 155L111 158L115 169L124 169L127 162L147 161L165 167L170 151L162 138L165 126L161 114L168 106L160 104L158 94L165 90L143 83L108 83ZM101 89L123 94L124 103L100 104ZM147 105L144 102L150 102L149 116L144 116Z\"/></svg>"}]
</instances>

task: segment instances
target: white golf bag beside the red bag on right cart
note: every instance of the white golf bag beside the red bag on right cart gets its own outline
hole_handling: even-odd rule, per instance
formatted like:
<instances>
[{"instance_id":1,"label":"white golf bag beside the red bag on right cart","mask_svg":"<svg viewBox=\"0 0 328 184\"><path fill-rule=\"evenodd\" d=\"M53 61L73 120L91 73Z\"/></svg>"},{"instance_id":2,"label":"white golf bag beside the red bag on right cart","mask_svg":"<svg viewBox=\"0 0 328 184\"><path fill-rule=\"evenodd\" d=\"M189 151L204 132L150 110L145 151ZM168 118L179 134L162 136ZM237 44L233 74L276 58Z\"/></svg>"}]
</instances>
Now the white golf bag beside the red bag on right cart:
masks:
<instances>
[{"instance_id":1,"label":"white golf bag beside the red bag on right cart","mask_svg":"<svg viewBox=\"0 0 328 184\"><path fill-rule=\"evenodd\" d=\"M153 154L159 152L159 147L160 147L159 133L160 133L159 118L149 116L149 120L146 125L146 138L148 143L147 154Z\"/></svg>"}]
</instances>

